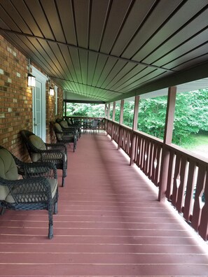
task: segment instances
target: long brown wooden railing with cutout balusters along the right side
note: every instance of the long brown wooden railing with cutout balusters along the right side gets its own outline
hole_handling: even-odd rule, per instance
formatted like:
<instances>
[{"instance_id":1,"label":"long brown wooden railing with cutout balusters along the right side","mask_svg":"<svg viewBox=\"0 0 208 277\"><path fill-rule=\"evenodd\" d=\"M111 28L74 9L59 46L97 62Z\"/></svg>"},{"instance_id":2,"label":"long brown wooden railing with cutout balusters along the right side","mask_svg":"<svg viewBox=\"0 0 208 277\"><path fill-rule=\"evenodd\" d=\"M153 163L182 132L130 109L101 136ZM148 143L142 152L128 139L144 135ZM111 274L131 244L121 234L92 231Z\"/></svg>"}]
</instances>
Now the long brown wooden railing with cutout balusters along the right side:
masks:
<instances>
[{"instance_id":1,"label":"long brown wooden railing with cutout balusters along the right side","mask_svg":"<svg viewBox=\"0 0 208 277\"><path fill-rule=\"evenodd\" d=\"M176 145L165 145L160 139L132 131L111 120L105 120L104 129L157 187L160 187L162 178L166 178L167 199L207 241L207 159L200 159ZM167 157L165 166L162 166L162 155ZM164 174L162 170L167 172Z\"/></svg>"}]
</instances>

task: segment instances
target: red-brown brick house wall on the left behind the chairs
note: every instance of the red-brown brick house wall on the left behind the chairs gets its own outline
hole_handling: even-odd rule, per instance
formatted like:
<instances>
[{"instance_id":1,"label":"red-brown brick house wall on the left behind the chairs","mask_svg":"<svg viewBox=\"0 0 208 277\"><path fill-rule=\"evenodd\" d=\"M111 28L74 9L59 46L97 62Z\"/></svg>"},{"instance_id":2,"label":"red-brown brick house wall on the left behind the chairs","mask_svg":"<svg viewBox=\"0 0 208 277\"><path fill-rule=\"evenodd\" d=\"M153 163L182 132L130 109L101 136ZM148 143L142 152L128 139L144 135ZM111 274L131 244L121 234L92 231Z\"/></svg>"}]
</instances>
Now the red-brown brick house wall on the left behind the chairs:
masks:
<instances>
[{"instance_id":1,"label":"red-brown brick house wall on the left behind the chairs","mask_svg":"<svg viewBox=\"0 0 208 277\"><path fill-rule=\"evenodd\" d=\"M32 89L27 87L28 59L0 36L0 145L22 160L28 160L21 129L32 131ZM37 69L38 66L35 66ZM43 71L41 71L43 73ZM54 85L54 84L53 84ZM58 115L62 116L62 90L59 88ZM55 97L48 95L46 84L46 141L50 138L50 121L55 120Z\"/></svg>"}]
</instances>

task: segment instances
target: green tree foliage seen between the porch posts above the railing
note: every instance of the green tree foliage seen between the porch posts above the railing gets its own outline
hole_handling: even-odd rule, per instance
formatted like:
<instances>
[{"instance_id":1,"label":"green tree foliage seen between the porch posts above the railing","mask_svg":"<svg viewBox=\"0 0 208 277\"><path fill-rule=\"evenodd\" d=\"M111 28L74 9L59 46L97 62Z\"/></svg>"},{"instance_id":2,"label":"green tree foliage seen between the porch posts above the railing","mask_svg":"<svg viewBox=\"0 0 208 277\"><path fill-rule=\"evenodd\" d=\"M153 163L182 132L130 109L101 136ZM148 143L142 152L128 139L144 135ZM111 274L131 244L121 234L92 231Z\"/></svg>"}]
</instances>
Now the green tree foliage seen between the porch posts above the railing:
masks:
<instances>
[{"instance_id":1,"label":"green tree foliage seen between the porch posts above the railing","mask_svg":"<svg viewBox=\"0 0 208 277\"><path fill-rule=\"evenodd\" d=\"M188 141L190 134L208 131L208 89L184 92L176 95L174 113L173 143L181 145ZM139 131L163 139L167 97L141 99L139 101ZM67 115L104 117L103 104L69 104ZM132 127L134 101L125 102L123 124ZM110 111L112 118L112 108ZM119 122L120 104L116 104L115 120Z\"/></svg>"}]
</instances>

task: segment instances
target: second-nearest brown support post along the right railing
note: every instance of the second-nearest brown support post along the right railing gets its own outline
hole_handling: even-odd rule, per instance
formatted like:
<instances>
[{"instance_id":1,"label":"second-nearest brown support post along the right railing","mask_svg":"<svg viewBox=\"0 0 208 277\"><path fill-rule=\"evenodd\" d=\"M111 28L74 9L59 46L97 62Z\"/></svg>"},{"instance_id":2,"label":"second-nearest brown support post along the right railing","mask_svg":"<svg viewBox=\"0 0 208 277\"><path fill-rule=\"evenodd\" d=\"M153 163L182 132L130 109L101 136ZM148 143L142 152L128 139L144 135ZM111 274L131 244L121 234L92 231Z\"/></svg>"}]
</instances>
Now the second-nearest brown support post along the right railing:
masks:
<instances>
[{"instance_id":1,"label":"second-nearest brown support post along the right railing","mask_svg":"<svg viewBox=\"0 0 208 277\"><path fill-rule=\"evenodd\" d=\"M131 156L130 156L130 165L134 163L134 151L135 151L135 141L136 137L134 135L134 131L137 130L137 123L138 123L138 113L139 113L139 95L135 96L134 99L134 118L132 124L132 138L131 138Z\"/></svg>"}]
</instances>

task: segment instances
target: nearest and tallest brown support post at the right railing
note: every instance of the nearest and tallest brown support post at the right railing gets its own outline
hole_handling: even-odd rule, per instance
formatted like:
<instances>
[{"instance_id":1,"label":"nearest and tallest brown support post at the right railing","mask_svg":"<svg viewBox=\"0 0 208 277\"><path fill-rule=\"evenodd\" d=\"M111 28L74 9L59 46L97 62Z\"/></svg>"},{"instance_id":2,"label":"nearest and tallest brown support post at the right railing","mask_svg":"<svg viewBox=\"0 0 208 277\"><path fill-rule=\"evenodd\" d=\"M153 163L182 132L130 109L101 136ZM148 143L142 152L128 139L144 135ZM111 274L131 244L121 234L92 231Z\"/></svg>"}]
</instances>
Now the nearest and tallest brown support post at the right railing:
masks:
<instances>
[{"instance_id":1,"label":"nearest and tallest brown support post at the right railing","mask_svg":"<svg viewBox=\"0 0 208 277\"><path fill-rule=\"evenodd\" d=\"M162 147L162 161L160 173L160 187L158 192L158 201L165 201L167 190L167 175L169 167L169 150L167 145L172 143L172 132L174 127L174 111L176 104L176 87L169 87L167 97L167 111L165 120L165 133Z\"/></svg>"}]
</instances>

